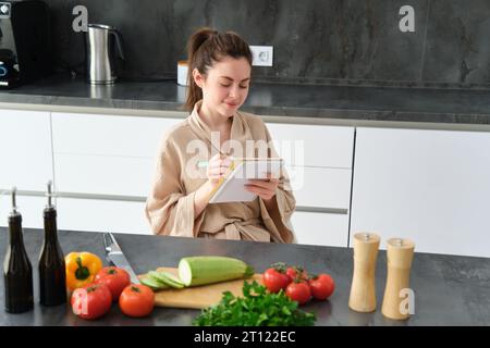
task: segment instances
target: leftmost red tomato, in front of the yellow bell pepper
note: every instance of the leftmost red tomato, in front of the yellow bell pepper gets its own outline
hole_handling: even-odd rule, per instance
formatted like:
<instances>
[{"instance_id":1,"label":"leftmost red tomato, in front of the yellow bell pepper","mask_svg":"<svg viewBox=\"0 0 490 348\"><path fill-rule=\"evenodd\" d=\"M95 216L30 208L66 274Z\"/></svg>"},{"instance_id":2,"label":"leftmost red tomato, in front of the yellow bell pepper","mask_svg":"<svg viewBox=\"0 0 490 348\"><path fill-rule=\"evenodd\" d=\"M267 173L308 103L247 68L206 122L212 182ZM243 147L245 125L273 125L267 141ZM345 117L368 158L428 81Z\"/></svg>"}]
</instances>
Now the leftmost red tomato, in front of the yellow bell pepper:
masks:
<instances>
[{"instance_id":1,"label":"leftmost red tomato, in front of the yellow bell pepper","mask_svg":"<svg viewBox=\"0 0 490 348\"><path fill-rule=\"evenodd\" d=\"M71 304L74 314L83 319L97 319L111 308L112 295L105 284L88 284L75 289Z\"/></svg>"}]
</instances>

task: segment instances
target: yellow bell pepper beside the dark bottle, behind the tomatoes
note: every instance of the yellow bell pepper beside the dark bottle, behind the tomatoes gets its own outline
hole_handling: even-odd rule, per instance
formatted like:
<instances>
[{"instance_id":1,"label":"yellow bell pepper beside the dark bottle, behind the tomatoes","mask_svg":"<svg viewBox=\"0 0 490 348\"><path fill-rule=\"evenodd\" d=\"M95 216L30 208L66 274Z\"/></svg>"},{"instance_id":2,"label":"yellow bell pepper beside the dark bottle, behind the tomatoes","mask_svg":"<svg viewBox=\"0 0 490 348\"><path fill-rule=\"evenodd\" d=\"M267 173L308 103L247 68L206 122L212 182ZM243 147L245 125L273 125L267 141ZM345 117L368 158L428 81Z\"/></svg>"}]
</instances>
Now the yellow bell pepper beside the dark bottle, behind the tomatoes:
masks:
<instances>
[{"instance_id":1,"label":"yellow bell pepper beside the dark bottle, behind the tomatoes","mask_svg":"<svg viewBox=\"0 0 490 348\"><path fill-rule=\"evenodd\" d=\"M73 291L94 282L94 278L102 269L102 261L90 252L70 252L65 258L66 287Z\"/></svg>"}]
</instances>

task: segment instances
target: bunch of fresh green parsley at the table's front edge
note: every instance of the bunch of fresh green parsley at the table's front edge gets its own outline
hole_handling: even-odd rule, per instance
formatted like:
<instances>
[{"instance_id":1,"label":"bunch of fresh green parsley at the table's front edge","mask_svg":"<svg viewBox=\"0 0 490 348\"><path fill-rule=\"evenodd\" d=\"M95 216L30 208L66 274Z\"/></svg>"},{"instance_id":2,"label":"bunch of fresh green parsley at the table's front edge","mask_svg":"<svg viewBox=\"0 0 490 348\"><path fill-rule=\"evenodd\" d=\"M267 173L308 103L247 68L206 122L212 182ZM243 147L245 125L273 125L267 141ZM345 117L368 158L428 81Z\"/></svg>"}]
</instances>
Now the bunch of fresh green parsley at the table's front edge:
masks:
<instances>
[{"instance_id":1,"label":"bunch of fresh green parsley at the table's front edge","mask_svg":"<svg viewBox=\"0 0 490 348\"><path fill-rule=\"evenodd\" d=\"M316 314L297 308L283 290L270 294L257 282L244 282L243 297L223 293L220 303L196 316L196 326L311 326Z\"/></svg>"}]
</instances>

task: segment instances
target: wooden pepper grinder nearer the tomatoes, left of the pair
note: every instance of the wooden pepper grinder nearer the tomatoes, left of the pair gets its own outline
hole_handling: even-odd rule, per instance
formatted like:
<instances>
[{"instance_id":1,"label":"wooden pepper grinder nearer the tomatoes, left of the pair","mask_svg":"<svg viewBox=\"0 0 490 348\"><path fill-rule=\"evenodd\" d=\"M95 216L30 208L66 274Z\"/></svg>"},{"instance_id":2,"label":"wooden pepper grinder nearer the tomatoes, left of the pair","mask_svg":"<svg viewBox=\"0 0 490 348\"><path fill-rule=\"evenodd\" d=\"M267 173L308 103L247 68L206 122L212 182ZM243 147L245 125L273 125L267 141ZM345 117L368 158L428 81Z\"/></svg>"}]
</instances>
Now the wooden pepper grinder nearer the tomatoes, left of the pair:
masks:
<instances>
[{"instance_id":1,"label":"wooden pepper grinder nearer the tomatoes, left of the pair","mask_svg":"<svg viewBox=\"0 0 490 348\"><path fill-rule=\"evenodd\" d=\"M357 312L376 310L375 270L380 237L373 233L354 235L354 274L348 307Z\"/></svg>"}]
</instances>

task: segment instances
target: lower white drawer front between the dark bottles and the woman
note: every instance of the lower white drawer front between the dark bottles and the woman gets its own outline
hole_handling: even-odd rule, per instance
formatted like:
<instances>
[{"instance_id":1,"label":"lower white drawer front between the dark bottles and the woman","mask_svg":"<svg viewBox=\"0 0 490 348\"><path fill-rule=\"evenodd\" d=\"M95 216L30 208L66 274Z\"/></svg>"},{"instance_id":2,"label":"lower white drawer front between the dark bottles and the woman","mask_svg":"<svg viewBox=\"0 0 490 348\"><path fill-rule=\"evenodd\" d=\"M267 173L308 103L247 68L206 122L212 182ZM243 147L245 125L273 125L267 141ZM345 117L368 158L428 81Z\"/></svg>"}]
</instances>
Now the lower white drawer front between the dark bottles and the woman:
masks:
<instances>
[{"instance_id":1,"label":"lower white drawer front between the dark bottles and the woman","mask_svg":"<svg viewBox=\"0 0 490 348\"><path fill-rule=\"evenodd\" d=\"M151 234L145 202L60 197L57 204L59 229Z\"/></svg>"}]
</instances>

